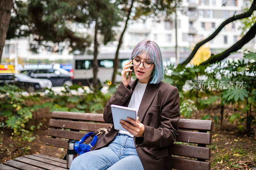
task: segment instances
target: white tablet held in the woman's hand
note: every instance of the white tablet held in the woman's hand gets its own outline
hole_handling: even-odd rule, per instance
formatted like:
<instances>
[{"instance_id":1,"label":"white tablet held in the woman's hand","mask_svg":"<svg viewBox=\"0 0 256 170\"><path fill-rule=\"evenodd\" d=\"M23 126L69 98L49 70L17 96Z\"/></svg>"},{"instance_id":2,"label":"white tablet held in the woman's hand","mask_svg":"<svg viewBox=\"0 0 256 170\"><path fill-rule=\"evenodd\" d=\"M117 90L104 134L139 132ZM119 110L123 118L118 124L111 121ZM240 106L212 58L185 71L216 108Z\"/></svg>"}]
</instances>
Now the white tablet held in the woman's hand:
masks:
<instances>
[{"instance_id":1,"label":"white tablet held in the woman's hand","mask_svg":"<svg viewBox=\"0 0 256 170\"><path fill-rule=\"evenodd\" d=\"M136 120L136 109L118 105L110 105L112 111L112 117L114 122L114 128L116 130L125 130L121 124L120 120L127 121L127 117Z\"/></svg>"}]
</instances>

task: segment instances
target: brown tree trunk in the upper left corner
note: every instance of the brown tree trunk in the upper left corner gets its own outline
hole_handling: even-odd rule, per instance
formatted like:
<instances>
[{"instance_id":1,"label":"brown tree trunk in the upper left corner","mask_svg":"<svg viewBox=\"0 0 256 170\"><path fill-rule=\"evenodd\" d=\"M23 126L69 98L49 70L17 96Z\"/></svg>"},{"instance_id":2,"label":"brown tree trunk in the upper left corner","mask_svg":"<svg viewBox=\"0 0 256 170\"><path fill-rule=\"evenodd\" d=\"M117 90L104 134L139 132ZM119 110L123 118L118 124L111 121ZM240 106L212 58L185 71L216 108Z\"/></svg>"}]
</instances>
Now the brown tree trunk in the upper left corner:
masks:
<instances>
[{"instance_id":1,"label":"brown tree trunk in the upper left corner","mask_svg":"<svg viewBox=\"0 0 256 170\"><path fill-rule=\"evenodd\" d=\"M9 29L12 6L13 0L0 1L0 63L4 48L4 41L6 39L6 34Z\"/></svg>"}]
</instances>

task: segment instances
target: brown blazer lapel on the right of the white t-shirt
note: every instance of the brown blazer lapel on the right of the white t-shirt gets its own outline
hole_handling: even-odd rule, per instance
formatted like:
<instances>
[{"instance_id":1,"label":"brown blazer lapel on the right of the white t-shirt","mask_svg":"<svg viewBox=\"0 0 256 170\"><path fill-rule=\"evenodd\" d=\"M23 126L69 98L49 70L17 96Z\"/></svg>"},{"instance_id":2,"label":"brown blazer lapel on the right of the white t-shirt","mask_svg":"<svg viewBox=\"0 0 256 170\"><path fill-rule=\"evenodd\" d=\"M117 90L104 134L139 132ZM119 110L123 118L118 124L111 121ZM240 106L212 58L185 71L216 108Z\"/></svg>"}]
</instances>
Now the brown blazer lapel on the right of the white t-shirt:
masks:
<instances>
[{"instance_id":1,"label":"brown blazer lapel on the right of the white t-shirt","mask_svg":"<svg viewBox=\"0 0 256 170\"><path fill-rule=\"evenodd\" d=\"M152 78L149 79L148 84L146 86L145 92L143 94L142 100L140 102L140 107L138 110L139 121L142 122L146 112L148 111L148 107L151 105L152 101L156 96L156 92L158 90L158 84L150 84ZM137 83L136 83L137 84Z\"/></svg>"}]
</instances>

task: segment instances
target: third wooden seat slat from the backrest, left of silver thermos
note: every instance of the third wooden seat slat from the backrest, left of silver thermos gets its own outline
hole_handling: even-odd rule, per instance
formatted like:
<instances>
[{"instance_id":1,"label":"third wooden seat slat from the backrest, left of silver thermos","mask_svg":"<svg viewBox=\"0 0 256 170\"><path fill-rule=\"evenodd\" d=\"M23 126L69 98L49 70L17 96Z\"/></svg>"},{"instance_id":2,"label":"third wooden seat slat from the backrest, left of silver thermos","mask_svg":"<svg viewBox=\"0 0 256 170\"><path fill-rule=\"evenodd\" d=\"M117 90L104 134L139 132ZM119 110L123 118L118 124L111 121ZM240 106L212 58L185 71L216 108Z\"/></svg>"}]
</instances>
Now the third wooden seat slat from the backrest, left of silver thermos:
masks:
<instances>
[{"instance_id":1,"label":"third wooden seat slat from the backrest, left of silver thermos","mask_svg":"<svg viewBox=\"0 0 256 170\"><path fill-rule=\"evenodd\" d=\"M39 161L36 161L36 160L24 158L24 157L15 158L14 160L22 162L22 163L26 163L28 165L48 169L48 170L52 170L52 169L67 170L67 168L61 168L61 167L58 167L58 166L49 165L49 164L46 164L46 163L43 163L43 162L39 162Z\"/></svg>"}]
</instances>

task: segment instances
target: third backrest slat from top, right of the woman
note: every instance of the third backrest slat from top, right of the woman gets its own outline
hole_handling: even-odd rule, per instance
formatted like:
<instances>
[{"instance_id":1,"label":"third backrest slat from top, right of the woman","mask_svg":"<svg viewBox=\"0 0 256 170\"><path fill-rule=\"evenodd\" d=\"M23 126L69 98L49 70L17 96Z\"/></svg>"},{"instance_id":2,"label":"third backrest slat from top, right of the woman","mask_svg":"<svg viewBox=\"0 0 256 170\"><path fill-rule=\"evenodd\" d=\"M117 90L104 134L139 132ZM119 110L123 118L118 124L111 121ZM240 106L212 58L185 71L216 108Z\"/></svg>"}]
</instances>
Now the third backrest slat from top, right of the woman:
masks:
<instances>
[{"instance_id":1,"label":"third backrest slat from top, right of the woman","mask_svg":"<svg viewBox=\"0 0 256 170\"><path fill-rule=\"evenodd\" d=\"M184 144L172 144L172 155L198 158L198 159L211 159L211 148L190 146Z\"/></svg>"}]
</instances>

